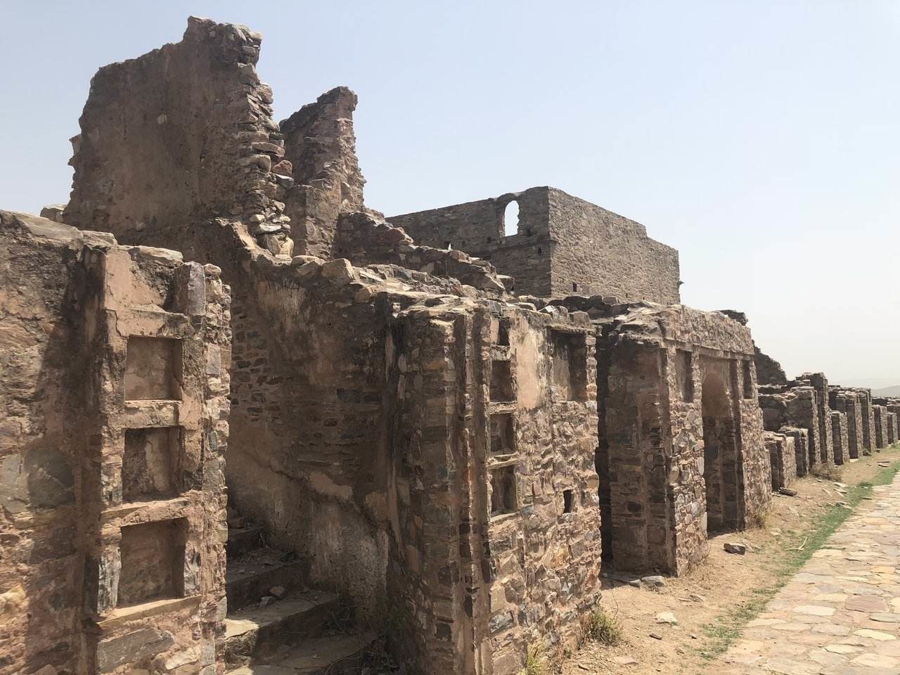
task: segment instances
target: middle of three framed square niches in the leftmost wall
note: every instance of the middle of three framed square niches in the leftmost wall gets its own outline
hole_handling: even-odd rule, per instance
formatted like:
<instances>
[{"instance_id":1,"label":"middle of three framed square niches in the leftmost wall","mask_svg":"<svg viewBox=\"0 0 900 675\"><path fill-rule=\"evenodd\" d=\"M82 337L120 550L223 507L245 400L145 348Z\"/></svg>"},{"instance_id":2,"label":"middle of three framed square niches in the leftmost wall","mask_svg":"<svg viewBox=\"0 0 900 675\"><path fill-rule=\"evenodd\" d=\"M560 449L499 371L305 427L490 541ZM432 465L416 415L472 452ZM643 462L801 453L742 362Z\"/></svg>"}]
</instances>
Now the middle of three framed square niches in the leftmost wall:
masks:
<instances>
[{"instance_id":1,"label":"middle of three framed square niches in the leftmost wall","mask_svg":"<svg viewBox=\"0 0 900 675\"><path fill-rule=\"evenodd\" d=\"M178 494L180 450L181 428L126 430L121 463L122 499L158 500Z\"/></svg>"}]
</instances>

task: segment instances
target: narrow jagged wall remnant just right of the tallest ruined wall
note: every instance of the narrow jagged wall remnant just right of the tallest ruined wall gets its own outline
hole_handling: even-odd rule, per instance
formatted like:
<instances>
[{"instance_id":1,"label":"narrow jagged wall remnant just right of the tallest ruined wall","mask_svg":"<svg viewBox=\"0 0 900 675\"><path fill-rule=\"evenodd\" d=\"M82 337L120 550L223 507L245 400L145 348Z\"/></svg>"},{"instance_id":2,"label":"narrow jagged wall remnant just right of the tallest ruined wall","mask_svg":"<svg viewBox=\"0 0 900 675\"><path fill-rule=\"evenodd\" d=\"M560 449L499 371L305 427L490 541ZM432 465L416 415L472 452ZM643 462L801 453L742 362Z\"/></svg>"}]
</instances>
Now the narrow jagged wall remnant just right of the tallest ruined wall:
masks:
<instances>
[{"instance_id":1,"label":"narrow jagged wall remnant just right of the tallest ruined wall","mask_svg":"<svg viewBox=\"0 0 900 675\"><path fill-rule=\"evenodd\" d=\"M298 254L332 257L338 216L363 210L365 179L356 159L354 110L356 94L338 86L281 122L290 167L276 168L292 172L285 213Z\"/></svg>"}]
</instances>

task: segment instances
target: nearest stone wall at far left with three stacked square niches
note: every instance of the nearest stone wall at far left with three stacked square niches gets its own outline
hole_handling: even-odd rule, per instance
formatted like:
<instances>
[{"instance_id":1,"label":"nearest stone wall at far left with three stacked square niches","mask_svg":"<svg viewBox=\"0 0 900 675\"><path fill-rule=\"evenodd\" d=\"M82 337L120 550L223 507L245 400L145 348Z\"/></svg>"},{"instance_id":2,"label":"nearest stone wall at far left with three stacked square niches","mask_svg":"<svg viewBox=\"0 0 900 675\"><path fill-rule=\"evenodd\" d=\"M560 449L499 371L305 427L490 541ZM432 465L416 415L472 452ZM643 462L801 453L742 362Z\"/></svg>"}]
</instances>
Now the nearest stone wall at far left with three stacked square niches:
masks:
<instances>
[{"instance_id":1,"label":"nearest stone wall at far left with three stacked square niches","mask_svg":"<svg viewBox=\"0 0 900 675\"><path fill-rule=\"evenodd\" d=\"M207 365L228 359L228 289L174 252L6 211L0 251L0 673L130 673L185 654L179 673L200 673L224 597L229 380ZM164 399L129 396L134 340L177 346ZM130 374L144 376L132 392L158 382ZM177 438L162 499L125 500L133 429ZM151 559L130 528L177 536Z\"/></svg>"}]
</instances>

